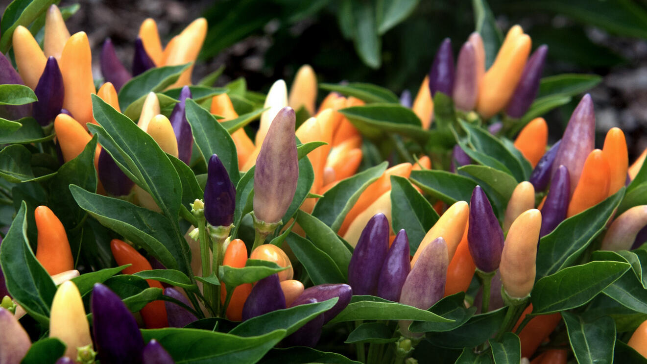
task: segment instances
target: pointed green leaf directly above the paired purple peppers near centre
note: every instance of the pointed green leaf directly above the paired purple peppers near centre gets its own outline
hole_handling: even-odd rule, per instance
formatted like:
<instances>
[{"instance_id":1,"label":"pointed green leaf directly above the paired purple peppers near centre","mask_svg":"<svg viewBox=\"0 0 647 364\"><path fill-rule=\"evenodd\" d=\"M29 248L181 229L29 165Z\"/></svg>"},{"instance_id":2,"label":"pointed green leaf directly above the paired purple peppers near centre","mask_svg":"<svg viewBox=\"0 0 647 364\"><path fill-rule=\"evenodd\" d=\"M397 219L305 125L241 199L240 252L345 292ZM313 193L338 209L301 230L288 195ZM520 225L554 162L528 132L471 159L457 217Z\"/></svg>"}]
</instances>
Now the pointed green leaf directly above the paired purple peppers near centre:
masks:
<instances>
[{"instance_id":1,"label":"pointed green leaf directly above the paired purple peppers near centre","mask_svg":"<svg viewBox=\"0 0 647 364\"><path fill-rule=\"evenodd\" d=\"M391 176L391 218L393 231L406 230L413 254L440 217L408 179Z\"/></svg>"}]
</instances>

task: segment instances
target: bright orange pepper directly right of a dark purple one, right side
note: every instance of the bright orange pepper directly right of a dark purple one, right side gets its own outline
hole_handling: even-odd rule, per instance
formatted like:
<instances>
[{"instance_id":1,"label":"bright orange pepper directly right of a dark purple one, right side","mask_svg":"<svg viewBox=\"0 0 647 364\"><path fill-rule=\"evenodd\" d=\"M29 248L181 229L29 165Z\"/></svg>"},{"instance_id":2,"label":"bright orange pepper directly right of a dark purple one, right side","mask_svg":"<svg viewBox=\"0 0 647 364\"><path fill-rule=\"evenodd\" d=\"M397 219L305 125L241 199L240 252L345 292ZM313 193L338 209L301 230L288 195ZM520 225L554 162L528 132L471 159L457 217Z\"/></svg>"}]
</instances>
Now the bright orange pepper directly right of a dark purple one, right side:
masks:
<instances>
[{"instance_id":1,"label":"bright orange pepper directly right of a dark purple one, right side","mask_svg":"<svg viewBox=\"0 0 647 364\"><path fill-rule=\"evenodd\" d=\"M609 162L602 150L595 149L589 153L568 205L567 218L597 205L609 196L609 169Z\"/></svg>"}]
</instances>

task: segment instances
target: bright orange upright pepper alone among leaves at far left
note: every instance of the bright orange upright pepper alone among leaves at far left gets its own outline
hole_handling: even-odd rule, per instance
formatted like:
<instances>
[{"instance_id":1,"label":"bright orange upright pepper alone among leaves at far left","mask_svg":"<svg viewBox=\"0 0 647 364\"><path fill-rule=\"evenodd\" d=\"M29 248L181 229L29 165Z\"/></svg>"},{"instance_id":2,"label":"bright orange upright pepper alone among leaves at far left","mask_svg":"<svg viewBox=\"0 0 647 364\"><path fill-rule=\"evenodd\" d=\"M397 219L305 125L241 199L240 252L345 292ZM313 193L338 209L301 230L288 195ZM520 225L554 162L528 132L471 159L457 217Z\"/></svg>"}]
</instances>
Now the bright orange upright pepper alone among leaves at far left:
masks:
<instances>
[{"instance_id":1,"label":"bright orange upright pepper alone among leaves at far left","mask_svg":"<svg viewBox=\"0 0 647 364\"><path fill-rule=\"evenodd\" d=\"M74 269L74 258L61 220L47 206L36 207L34 218L38 228L36 259L49 275Z\"/></svg>"}]
</instances>

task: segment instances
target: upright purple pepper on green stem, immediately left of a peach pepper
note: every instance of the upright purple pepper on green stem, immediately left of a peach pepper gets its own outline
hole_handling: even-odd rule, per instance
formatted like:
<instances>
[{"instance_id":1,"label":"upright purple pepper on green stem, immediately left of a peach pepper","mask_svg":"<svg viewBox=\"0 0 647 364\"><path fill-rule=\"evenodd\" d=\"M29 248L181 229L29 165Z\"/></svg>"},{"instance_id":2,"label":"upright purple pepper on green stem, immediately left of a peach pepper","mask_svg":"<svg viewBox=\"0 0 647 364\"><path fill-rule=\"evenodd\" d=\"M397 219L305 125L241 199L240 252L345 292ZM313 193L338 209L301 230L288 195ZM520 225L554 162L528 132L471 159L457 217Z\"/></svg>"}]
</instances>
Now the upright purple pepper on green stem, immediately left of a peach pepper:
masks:
<instances>
[{"instance_id":1,"label":"upright purple pepper on green stem, immediately left of a peach pepper","mask_svg":"<svg viewBox=\"0 0 647 364\"><path fill-rule=\"evenodd\" d=\"M485 273L496 271L503 251L503 229L481 186L474 187L470 199L467 243L477 269Z\"/></svg>"}]
</instances>

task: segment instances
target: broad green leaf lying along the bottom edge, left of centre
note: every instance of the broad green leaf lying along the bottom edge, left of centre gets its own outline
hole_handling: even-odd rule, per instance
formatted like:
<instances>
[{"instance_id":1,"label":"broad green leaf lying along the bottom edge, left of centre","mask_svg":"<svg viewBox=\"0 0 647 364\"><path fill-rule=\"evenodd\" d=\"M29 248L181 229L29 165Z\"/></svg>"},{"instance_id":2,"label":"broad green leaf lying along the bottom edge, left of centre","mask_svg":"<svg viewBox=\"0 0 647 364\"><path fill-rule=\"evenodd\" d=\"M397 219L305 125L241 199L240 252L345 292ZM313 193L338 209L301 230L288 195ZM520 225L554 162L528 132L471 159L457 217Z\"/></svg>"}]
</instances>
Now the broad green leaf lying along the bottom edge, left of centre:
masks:
<instances>
[{"instance_id":1,"label":"broad green leaf lying along the bottom edge, left of centre","mask_svg":"<svg viewBox=\"0 0 647 364\"><path fill-rule=\"evenodd\" d=\"M274 330L264 335L239 337L192 328L142 330L145 343L151 339L159 341L177 364L253 364L285 334L286 330Z\"/></svg>"}]
</instances>

